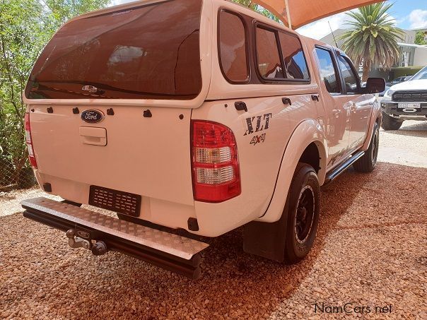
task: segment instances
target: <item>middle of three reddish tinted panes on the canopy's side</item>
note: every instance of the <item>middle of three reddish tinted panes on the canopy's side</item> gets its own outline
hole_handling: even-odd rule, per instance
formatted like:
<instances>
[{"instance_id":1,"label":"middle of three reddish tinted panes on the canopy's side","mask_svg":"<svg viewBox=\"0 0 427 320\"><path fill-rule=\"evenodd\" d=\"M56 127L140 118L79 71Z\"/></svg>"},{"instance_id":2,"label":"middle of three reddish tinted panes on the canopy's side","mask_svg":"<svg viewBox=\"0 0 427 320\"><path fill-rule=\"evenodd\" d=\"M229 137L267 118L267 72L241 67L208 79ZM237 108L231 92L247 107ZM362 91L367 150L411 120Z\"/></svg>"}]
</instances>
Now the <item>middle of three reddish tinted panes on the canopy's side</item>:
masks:
<instances>
[{"instance_id":1,"label":"middle of three reddish tinted panes on the canopy's side","mask_svg":"<svg viewBox=\"0 0 427 320\"><path fill-rule=\"evenodd\" d=\"M274 32L257 28L257 59L263 78L284 78Z\"/></svg>"}]
</instances>

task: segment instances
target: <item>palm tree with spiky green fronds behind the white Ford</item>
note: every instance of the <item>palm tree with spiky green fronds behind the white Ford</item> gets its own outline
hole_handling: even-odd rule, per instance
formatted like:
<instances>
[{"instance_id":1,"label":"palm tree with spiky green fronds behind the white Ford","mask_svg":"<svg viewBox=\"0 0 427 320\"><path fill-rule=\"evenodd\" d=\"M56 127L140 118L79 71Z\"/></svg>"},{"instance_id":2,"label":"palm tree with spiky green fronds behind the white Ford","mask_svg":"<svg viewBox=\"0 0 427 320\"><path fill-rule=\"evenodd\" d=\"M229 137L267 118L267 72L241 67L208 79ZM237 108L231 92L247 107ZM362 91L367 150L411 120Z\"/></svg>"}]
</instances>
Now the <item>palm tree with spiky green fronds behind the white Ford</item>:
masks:
<instances>
[{"instance_id":1,"label":"palm tree with spiky green fronds behind the white Ford","mask_svg":"<svg viewBox=\"0 0 427 320\"><path fill-rule=\"evenodd\" d=\"M399 57L397 40L402 40L404 32L387 13L392 5L380 2L346 13L351 17L347 23L351 28L341 35L342 47L357 65L363 62L363 81L368 78L371 66L390 69Z\"/></svg>"}]
</instances>

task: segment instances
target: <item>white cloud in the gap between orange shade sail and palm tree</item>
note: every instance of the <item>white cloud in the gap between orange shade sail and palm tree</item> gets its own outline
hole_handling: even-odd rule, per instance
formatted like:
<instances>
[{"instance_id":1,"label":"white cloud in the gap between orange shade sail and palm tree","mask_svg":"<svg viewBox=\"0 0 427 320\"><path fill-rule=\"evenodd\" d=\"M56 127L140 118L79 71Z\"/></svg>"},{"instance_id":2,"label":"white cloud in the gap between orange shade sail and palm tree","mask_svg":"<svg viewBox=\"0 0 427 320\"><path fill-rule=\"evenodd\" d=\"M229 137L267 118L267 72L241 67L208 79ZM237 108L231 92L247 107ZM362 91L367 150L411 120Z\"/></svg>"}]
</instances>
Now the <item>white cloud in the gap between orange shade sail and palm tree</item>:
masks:
<instances>
[{"instance_id":1,"label":"white cloud in the gap between orange shade sail and palm tree","mask_svg":"<svg viewBox=\"0 0 427 320\"><path fill-rule=\"evenodd\" d=\"M323 18L308 25L304 25L303 27L298 28L297 31L301 35L319 40L325 35L331 33L331 28L334 31L339 28L346 28L345 23L349 20L349 18L350 17L345 13L338 13L334 16ZM330 28L328 21L331 25Z\"/></svg>"}]
</instances>

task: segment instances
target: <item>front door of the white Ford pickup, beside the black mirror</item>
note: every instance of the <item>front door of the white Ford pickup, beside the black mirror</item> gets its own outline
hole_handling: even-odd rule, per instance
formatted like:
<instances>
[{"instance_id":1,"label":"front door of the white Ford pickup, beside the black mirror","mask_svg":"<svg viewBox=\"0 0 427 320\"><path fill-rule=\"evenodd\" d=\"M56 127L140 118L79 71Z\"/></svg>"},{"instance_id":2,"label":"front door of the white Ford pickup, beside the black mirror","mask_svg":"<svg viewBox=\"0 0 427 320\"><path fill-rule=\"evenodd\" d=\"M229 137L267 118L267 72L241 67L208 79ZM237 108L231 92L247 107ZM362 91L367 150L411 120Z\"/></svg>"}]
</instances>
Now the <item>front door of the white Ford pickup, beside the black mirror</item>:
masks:
<instances>
[{"instance_id":1,"label":"front door of the white Ford pickup, beside the black mirror","mask_svg":"<svg viewBox=\"0 0 427 320\"><path fill-rule=\"evenodd\" d=\"M361 94L361 83L349 57L337 53L337 61L344 84L342 95L350 107L349 150L353 152L365 142L374 97Z\"/></svg>"}]
</instances>

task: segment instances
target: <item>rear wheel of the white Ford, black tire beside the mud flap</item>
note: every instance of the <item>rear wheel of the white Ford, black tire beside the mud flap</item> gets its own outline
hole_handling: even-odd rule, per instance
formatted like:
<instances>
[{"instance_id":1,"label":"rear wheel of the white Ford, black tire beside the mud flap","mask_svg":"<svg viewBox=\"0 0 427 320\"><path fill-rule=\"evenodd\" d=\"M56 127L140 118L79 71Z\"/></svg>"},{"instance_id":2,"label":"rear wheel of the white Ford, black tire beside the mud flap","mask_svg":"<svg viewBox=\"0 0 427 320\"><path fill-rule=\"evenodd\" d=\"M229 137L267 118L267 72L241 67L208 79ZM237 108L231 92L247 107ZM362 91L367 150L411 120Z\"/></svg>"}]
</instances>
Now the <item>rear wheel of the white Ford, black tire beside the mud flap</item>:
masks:
<instances>
[{"instance_id":1,"label":"rear wheel of the white Ford, black tire beside the mud flap","mask_svg":"<svg viewBox=\"0 0 427 320\"><path fill-rule=\"evenodd\" d=\"M315 241L320 211L320 186L315 169L298 163L285 212L288 217L285 239L285 263L297 263L307 256Z\"/></svg>"}]
</instances>

